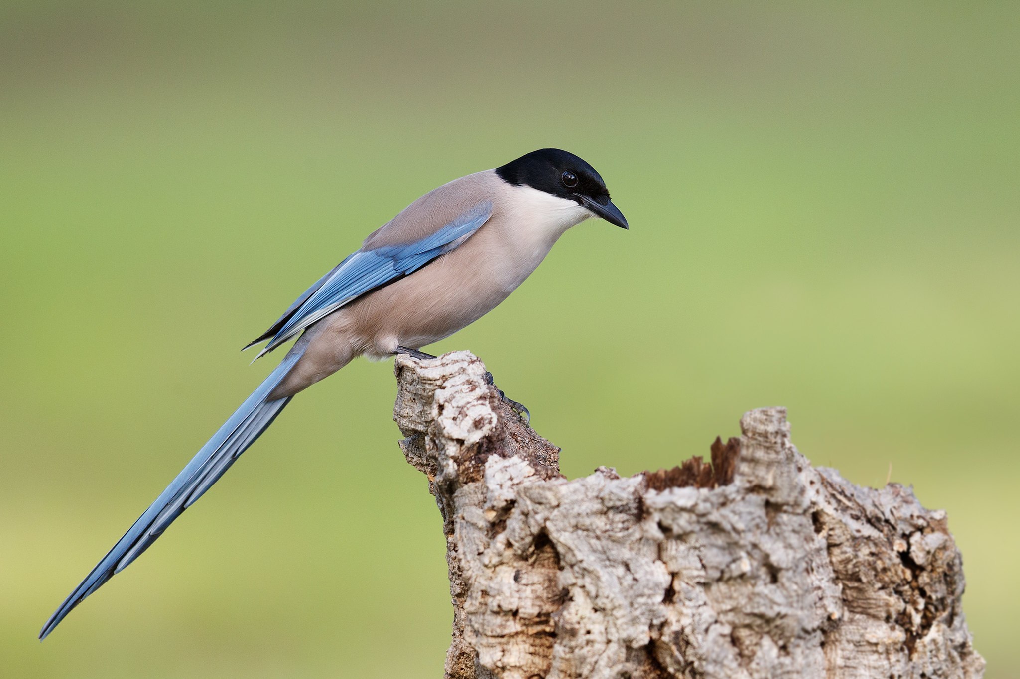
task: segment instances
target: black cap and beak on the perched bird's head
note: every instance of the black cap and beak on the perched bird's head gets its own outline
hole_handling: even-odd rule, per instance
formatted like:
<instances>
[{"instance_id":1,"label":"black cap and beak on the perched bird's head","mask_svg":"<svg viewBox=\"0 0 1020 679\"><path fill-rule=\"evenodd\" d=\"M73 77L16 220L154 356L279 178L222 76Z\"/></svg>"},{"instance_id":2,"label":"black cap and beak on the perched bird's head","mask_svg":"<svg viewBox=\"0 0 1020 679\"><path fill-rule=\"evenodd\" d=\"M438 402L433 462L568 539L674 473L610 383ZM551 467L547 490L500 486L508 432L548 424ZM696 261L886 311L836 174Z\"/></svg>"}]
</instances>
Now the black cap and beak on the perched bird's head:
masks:
<instances>
[{"instance_id":1,"label":"black cap and beak on the perched bird's head","mask_svg":"<svg viewBox=\"0 0 1020 679\"><path fill-rule=\"evenodd\" d=\"M515 186L527 185L556 197L573 201L582 208L627 228L627 220L613 202L602 175L571 153L560 149L540 149L496 168L504 181Z\"/></svg>"}]
</instances>

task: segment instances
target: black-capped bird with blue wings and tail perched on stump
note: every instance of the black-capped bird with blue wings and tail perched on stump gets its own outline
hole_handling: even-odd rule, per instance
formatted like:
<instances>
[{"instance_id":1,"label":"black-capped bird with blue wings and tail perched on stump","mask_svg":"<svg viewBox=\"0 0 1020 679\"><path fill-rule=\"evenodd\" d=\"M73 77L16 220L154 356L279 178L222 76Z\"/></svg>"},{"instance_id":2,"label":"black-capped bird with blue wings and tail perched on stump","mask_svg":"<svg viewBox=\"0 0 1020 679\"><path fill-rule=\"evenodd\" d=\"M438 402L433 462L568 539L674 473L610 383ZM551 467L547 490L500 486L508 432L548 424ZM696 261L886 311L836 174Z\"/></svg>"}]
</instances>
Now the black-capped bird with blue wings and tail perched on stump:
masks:
<instances>
[{"instance_id":1,"label":"black-capped bird with blue wings and tail perched on stump","mask_svg":"<svg viewBox=\"0 0 1020 679\"><path fill-rule=\"evenodd\" d=\"M71 609L152 545L296 394L357 356L435 357L421 347L495 308L561 235L593 217L629 228L595 168L566 151L540 149L443 184L370 233L245 347L265 342L258 358L297 338L279 364L60 604L39 638L46 638ZM506 400L526 414L522 405Z\"/></svg>"}]
</instances>

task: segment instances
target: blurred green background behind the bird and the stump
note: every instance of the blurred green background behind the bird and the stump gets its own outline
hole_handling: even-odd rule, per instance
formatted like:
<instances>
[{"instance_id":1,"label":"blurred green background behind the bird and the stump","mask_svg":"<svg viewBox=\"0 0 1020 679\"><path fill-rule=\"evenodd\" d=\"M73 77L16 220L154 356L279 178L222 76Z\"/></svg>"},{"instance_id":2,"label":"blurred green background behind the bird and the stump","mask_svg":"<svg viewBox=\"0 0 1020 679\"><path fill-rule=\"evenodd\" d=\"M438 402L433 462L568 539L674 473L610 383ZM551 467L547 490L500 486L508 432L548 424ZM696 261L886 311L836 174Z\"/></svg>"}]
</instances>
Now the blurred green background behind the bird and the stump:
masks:
<instances>
[{"instance_id":1,"label":"blurred green background behind the bird and the stump","mask_svg":"<svg viewBox=\"0 0 1020 679\"><path fill-rule=\"evenodd\" d=\"M468 348L564 471L789 408L949 511L1020 676L1016 2L0 5L0 676L439 677L440 516L391 367L299 399L45 643L270 363L238 349L424 191L546 146L586 222ZM1011 537L1011 535L1013 535Z\"/></svg>"}]
</instances>

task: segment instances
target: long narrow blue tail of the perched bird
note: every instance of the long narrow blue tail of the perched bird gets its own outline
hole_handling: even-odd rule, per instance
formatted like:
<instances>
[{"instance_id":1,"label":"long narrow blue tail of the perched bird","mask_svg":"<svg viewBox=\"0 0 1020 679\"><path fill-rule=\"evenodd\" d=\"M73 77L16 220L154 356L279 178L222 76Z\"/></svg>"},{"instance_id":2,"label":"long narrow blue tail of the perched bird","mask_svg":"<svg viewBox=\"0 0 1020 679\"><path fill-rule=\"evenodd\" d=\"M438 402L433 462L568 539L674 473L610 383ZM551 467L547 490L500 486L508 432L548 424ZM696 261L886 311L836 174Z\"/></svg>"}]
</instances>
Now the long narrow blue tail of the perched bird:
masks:
<instances>
[{"instance_id":1,"label":"long narrow blue tail of the perched bird","mask_svg":"<svg viewBox=\"0 0 1020 679\"><path fill-rule=\"evenodd\" d=\"M173 519L195 504L202 494L215 484L248 446L272 423L272 420L290 403L291 398L266 400L272 390L284 381L287 374L304 353L307 338L299 339L279 365L259 385L219 431L202 446L166 490L153 502L124 536L117 541L103 560L96 564L74 591L50 616L39 633L45 639L71 609L101 587L104 582L128 567L142 552L162 534Z\"/></svg>"}]
</instances>

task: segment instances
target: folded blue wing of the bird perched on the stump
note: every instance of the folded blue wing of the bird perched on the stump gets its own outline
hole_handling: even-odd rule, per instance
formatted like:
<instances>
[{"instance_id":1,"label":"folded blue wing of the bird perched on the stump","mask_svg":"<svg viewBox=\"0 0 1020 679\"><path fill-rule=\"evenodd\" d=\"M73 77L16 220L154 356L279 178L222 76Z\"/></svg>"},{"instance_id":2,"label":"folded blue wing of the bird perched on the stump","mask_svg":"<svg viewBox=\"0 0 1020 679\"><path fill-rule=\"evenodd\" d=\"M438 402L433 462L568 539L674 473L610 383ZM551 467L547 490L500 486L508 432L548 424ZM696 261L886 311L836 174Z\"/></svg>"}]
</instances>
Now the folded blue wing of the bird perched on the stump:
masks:
<instances>
[{"instance_id":1,"label":"folded blue wing of the bird perched on the stump","mask_svg":"<svg viewBox=\"0 0 1020 679\"><path fill-rule=\"evenodd\" d=\"M493 204L486 202L419 240L354 252L319 279L312 286L314 290L309 288L302 295L303 299L292 304L269 332L256 340L259 342L272 333L259 356L366 292L407 276L454 249L477 231L492 214Z\"/></svg>"}]
</instances>

